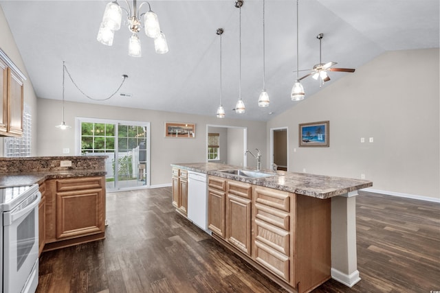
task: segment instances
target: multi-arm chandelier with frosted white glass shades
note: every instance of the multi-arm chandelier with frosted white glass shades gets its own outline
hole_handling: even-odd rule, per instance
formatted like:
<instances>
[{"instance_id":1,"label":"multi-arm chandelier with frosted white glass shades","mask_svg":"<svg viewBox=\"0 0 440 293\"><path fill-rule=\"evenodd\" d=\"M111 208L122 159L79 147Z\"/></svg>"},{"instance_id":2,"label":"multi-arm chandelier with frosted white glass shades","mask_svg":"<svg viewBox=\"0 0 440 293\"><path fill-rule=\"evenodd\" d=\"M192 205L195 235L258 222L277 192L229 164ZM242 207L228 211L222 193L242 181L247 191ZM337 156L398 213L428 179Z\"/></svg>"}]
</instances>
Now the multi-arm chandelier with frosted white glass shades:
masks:
<instances>
[{"instance_id":1,"label":"multi-arm chandelier with frosted white glass shades","mask_svg":"<svg viewBox=\"0 0 440 293\"><path fill-rule=\"evenodd\" d=\"M137 8L136 0L133 0L133 5L130 5L127 0L125 0L125 2L129 10L122 8L118 4L118 0L107 4L96 39L104 45L113 45L115 31L121 28L122 10L124 10L127 16L125 24L129 27L129 31L131 32L131 37L129 38L129 56L142 56L140 39L137 36L137 33L140 32L142 27L144 27L147 36L154 38L154 47L157 54L165 54L168 52L165 35L160 30L157 14L151 11L150 3L142 2L139 8ZM148 11L140 14L140 10L144 4L148 4ZM144 19L144 25L142 25L141 22L142 17Z\"/></svg>"}]
</instances>

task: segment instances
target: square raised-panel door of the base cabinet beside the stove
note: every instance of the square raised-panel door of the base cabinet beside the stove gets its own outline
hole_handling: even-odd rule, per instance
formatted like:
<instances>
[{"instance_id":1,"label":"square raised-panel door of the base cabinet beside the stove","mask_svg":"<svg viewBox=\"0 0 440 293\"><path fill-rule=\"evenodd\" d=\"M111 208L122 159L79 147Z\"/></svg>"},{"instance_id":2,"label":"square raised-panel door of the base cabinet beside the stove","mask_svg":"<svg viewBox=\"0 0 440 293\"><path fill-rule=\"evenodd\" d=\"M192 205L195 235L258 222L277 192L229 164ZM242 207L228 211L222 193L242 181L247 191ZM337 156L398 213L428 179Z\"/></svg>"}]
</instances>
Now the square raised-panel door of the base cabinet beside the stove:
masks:
<instances>
[{"instance_id":1,"label":"square raised-panel door of the base cabinet beside the stove","mask_svg":"<svg viewBox=\"0 0 440 293\"><path fill-rule=\"evenodd\" d=\"M104 232L104 196L102 189L57 192L56 238Z\"/></svg>"}]
</instances>

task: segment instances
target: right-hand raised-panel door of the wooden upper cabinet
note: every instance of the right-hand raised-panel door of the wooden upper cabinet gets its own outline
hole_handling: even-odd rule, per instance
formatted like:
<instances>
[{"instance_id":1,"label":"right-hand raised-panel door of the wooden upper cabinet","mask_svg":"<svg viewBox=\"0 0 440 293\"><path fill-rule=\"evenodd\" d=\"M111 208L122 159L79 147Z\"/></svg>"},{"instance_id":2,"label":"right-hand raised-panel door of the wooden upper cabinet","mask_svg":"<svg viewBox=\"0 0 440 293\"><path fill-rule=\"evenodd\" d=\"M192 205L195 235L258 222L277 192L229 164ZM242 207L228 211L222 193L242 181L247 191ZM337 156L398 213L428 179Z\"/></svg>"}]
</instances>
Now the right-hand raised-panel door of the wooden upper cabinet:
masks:
<instances>
[{"instance_id":1,"label":"right-hand raised-panel door of the wooden upper cabinet","mask_svg":"<svg viewBox=\"0 0 440 293\"><path fill-rule=\"evenodd\" d=\"M8 132L23 134L23 81L8 69Z\"/></svg>"}]
</instances>

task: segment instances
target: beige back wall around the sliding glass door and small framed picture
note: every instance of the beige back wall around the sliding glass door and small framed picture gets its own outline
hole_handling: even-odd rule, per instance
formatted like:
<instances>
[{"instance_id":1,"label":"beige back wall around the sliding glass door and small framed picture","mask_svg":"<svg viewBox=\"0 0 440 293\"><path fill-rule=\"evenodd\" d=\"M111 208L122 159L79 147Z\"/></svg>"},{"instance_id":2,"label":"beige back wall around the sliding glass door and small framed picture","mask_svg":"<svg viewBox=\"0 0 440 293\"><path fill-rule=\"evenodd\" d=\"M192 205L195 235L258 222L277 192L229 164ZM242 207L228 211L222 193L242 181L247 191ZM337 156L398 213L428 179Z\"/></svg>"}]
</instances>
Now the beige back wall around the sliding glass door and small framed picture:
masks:
<instances>
[{"instance_id":1,"label":"beige back wall around the sliding glass door and small framed picture","mask_svg":"<svg viewBox=\"0 0 440 293\"><path fill-rule=\"evenodd\" d=\"M61 121L62 103L53 99L39 99L39 156L63 156L63 148L75 154L75 117L95 117L126 121L146 121L151 123L151 185L171 182L171 163L206 162L206 125L243 126L248 128L248 146L258 148L265 143L265 122L236 119L217 119L212 116L188 115L154 110L120 108L100 104L65 102L65 122L73 126L59 130L55 125ZM164 137L166 121L190 122L196 124L195 139ZM264 130L264 131L261 131Z\"/></svg>"}]
</instances>

